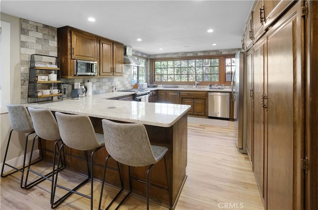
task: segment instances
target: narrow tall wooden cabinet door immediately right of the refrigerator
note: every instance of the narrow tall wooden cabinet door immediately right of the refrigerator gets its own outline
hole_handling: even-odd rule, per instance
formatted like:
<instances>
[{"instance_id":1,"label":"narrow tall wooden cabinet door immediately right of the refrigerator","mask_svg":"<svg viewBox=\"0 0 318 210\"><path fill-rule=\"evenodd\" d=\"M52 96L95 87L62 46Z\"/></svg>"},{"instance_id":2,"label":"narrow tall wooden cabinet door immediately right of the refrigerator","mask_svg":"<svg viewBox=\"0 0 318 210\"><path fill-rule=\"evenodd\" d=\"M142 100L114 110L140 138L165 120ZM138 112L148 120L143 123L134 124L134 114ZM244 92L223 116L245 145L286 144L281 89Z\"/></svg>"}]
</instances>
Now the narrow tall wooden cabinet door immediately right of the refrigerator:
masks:
<instances>
[{"instance_id":1,"label":"narrow tall wooden cabinet door immediately right of the refrigerator","mask_svg":"<svg viewBox=\"0 0 318 210\"><path fill-rule=\"evenodd\" d=\"M246 150L253 163L253 50L246 53Z\"/></svg>"}]
</instances>

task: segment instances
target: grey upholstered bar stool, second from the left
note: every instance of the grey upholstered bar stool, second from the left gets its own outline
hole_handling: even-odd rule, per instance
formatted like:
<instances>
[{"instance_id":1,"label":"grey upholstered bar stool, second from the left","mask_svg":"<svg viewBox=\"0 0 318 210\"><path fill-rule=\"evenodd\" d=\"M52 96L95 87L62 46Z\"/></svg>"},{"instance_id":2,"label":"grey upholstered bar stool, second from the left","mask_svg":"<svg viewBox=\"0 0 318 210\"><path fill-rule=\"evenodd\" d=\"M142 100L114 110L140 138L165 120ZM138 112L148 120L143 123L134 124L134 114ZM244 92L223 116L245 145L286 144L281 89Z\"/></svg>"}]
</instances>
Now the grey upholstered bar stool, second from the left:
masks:
<instances>
[{"instance_id":1,"label":"grey upholstered bar stool, second from the left","mask_svg":"<svg viewBox=\"0 0 318 210\"><path fill-rule=\"evenodd\" d=\"M58 165L58 168L55 169L56 150L59 150L58 144L62 140L61 140L61 136L60 136L58 123L57 123L54 115L52 114L52 112L49 109L43 109L43 108L31 108L31 107L29 107L28 110L29 110L29 113L30 113L32 121L33 121L33 126L34 126L34 130L35 130L36 135L38 137L40 137L41 139L45 139L48 141L55 141L55 143L54 143L54 151L49 151L49 150L45 149L45 151L53 153L53 169L52 169L52 171L50 173L44 175L44 174L41 174L39 172L36 172L36 171L30 169L30 165L29 165L28 169L26 171L24 189L30 189L31 187L37 185L38 183L44 181L45 179L50 180L52 182L52 180L54 180L54 178L52 177L52 179L51 179L50 177L52 176L53 171L56 172L56 170L61 170L64 168L64 165L65 165L65 162L63 161L62 166L60 167L60 165ZM33 142L32 142L30 162L31 162L32 154L33 154L35 137L33 138ZM41 151L42 157L43 157L43 150L44 149L42 149L40 140L39 140L39 145L40 145L39 150ZM64 158L64 160L65 160L65 158ZM35 173L36 175L40 176L40 178L27 184L29 172ZM52 184L51 192L52 192L52 189L53 189L53 184Z\"/></svg>"}]
</instances>

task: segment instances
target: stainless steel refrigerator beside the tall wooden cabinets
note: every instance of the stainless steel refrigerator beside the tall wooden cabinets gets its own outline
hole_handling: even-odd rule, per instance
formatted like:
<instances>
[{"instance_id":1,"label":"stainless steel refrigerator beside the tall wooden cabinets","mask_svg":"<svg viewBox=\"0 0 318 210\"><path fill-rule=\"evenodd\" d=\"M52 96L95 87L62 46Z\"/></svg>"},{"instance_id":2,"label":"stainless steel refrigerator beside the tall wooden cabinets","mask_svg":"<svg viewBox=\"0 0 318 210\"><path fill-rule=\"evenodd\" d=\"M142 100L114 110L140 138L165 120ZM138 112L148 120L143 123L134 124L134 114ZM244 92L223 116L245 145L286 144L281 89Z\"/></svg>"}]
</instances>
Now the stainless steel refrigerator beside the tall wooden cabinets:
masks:
<instances>
[{"instance_id":1,"label":"stainless steel refrigerator beside the tall wooden cabinets","mask_svg":"<svg viewBox=\"0 0 318 210\"><path fill-rule=\"evenodd\" d=\"M246 151L246 110L244 111L244 53L235 55L235 72L232 77L232 99L234 100L234 128L236 131L236 145L241 153Z\"/></svg>"}]
</instances>

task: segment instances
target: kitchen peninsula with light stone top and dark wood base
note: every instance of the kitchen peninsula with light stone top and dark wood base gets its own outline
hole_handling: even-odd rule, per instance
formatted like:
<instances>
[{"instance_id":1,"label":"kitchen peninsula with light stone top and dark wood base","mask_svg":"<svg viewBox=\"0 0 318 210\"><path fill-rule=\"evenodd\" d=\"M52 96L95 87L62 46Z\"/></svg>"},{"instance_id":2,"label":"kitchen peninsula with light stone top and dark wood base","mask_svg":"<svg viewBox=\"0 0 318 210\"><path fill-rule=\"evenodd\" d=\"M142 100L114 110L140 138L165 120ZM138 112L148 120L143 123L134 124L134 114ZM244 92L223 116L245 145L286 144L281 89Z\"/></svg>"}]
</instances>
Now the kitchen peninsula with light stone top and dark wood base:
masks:
<instances>
[{"instance_id":1,"label":"kitchen peninsula with light stone top and dark wood base","mask_svg":"<svg viewBox=\"0 0 318 210\"><path fill-rule=\"evenodd\" d=\"M112 92L106 94L83 97L79 100L63 100L47 104L24 104L27 107L48 108L51 111L59 111L70 114L88 115L93 123L95 131L102 133L101 119L109 119L123 123L142 123L145 125L151 144L168 148L166 154L169 182L171 187L172 205L175 207L178 196L186 179L187 165L187 111L189 105L175 105L163 103L144 103L109 100L110 98L129 95L125 92ZM50 141L42 140L43 148L53 148ZM83 154L67 148L67 153L83 157ZM94 163L103 165L108 153L105 148L97 151ZM48 155L44 157L50 159ZM81 167L81 161L77 158L67 157L67 168L85 173ZM115 161L110 161L111 167L116 167ZM120 165L124 188L128 189L128 166ZM132 175L146 180L147 167L132 168ZM94 178L101 179L102 167L94 166ZM163 160L154 165L150 174L150 182L165 187L166 179ZM105 181L119 187L117 171L107 170ZM133 181L132 193L139 196L146 196L144 184ZM98 189L99 190L99 189ZM150 198L153 202L168 207L169 198L166 191L150 187Z\"/></svg>"}]
</instances>

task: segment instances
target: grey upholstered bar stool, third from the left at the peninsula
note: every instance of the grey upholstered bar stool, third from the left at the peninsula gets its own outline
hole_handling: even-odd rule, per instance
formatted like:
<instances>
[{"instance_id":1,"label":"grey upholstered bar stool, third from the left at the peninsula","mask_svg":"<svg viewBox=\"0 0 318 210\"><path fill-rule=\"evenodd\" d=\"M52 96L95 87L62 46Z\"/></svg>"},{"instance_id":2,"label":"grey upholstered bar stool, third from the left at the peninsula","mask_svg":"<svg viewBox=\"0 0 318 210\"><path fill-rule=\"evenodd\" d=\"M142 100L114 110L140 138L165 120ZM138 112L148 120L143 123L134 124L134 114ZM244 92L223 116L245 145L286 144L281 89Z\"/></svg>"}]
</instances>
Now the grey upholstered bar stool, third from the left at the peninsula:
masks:
<instances>
[{"instance_id":1,"label":"grey upholstered bar stool, third from the left at the peninsula","mask_svg":"<svg viewBox=\"0 0 318 210\"><path fill-rule=\"evenodd\" d=\"M87 178L82 181L78 186L73 189L69 189L65 186L61 186L57 184L59 171L56 173L53 192L51 195L51 208L54 209L58 207L62 202L64 202L70 195L73 193L83 196L85 198L90 199L90 209L93 209L93 157L97 150L104 146L104 136L103 134L95 133L93 125L86 115L73 115L73 114L64 114L60 112L55 112L55 116L59 125L60 135L63 139L63 144L60 147L59 159L58 163L61 160L61 154L64 153L64 145L68 146L71 149L84 151L85 154L85 162L87 167ZM92 150L90 154L90 170L89 170L89 162L88 162L88 154L87 151ZM71 154L66 154L71 156ZM72 156L75 157L75 156ZM76 157L82 159L80 157ZM82 193L77 192L77 190L85 184L87 181L90 182L90 196L84 195ZM54 202L56 187L62 188L64 190L69 191L63 197Z\"/></svg>"}]
</instances>

